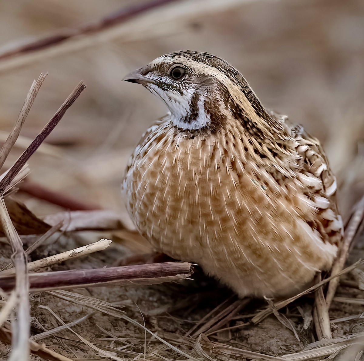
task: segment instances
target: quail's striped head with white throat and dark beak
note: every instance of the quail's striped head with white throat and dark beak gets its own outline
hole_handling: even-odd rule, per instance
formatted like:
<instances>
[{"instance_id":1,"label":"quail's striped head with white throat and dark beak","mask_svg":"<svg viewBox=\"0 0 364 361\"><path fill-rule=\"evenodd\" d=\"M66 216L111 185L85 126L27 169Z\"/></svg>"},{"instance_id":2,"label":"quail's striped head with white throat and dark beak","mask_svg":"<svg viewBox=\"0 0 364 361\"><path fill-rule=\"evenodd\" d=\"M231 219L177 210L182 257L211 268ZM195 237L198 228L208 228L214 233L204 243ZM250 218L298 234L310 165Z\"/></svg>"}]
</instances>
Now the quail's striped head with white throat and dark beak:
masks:
<instances>
[{"instance_id":1,"label":"quail's striped head with white throat and dark beak","mask_svg":"<svg viewBox=\"0 0 364 361\"><path fill-rule=\"evenodd\" d=\"M166 54L124 80L159 96L181 129L216 129L228 117L249 119L252 124L270 117L241 73L209 53Z\"/></svg>"}]
</instances>

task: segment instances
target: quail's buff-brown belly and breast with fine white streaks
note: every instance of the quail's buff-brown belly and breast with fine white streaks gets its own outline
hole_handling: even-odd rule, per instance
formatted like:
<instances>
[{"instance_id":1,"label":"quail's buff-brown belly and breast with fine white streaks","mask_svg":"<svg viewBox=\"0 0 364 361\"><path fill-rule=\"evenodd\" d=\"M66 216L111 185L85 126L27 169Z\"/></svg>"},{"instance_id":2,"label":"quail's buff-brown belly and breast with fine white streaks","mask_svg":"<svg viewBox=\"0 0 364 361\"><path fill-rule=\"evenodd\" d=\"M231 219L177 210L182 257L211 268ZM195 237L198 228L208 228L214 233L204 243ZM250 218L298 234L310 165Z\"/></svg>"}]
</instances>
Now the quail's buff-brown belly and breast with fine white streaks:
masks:
<instances>
[{"instance_id":1,"label":"quail's buff-brown belly and breast with fine white streaks","mask_svg":"<svg viewBox=\"0 0 364 361\"><path fill-rule=\"evenodd\" d=\"M125 182L131 217L155 249L201 265L240 296L298 292L336 255L283 196L268 196L251 176L153 157Z\"/></svg>"}]
</instances>

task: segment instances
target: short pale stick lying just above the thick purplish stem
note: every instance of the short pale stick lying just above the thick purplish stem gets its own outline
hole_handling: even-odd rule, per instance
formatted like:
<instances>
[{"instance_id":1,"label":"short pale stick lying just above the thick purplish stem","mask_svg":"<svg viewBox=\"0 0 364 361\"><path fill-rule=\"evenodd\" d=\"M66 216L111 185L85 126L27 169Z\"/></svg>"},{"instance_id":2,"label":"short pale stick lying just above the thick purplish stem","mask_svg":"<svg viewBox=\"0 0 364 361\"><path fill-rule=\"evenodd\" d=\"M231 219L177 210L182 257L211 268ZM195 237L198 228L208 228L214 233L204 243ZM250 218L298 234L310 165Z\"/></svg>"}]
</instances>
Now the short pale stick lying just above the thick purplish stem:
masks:
<instances>
[{"instance_id":1,"label":"short pale stick lying just above the thick purplish stem","mask_svg":"<svg viewBox=\"0 0 364 361\"><path fill-rule=\"evenodd\" d=\"M49 256L46 258L42 258L41 260L33 261L28 263L28 271L37 268L43 268L50 266L55 263L71 260L72 258L86 256L86 254L98 252L101 250L106 249L111 244L111 240L102 239L98 242L88 244L83 247L71 249L66 252L55 254L54 256ZM2 276L12 276L15 273L15 268L5 269L4 271L0 272L0 277Z\"/></svg>"}]
</instances>

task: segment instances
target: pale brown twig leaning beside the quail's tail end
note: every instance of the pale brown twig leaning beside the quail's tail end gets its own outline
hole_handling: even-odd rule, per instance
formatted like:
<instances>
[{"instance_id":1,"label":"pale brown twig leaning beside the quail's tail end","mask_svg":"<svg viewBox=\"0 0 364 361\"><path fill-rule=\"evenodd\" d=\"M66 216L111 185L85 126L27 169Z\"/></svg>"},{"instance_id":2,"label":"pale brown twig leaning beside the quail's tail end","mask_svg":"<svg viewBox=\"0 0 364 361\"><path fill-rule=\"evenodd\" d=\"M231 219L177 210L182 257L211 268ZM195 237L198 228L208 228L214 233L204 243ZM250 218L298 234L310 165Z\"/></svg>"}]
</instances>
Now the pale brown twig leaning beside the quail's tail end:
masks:
<instances>
[{"instance_id":1,"label":"pale brown twig leaning beside the quail's tail end","mask_svg":"<svg viewBox=\"0 0 364 361\"><path fill-rule=\"evenodd\" d=\"M364 217L364 197L356 204L355 212L351 217L344 233L343 243L341 244L339 256L336 258L332 269L331 275L335 276L338 274L345 265L345 262L349 255L350 246L355 238L358 228L360 227L361 222L363 222ZM331 302L335 296L337 286L339 285L339 277L333 278L330 281L327 293L326 293L326 304L327 307L330 308Z\"/></svg>"}]
</instances>

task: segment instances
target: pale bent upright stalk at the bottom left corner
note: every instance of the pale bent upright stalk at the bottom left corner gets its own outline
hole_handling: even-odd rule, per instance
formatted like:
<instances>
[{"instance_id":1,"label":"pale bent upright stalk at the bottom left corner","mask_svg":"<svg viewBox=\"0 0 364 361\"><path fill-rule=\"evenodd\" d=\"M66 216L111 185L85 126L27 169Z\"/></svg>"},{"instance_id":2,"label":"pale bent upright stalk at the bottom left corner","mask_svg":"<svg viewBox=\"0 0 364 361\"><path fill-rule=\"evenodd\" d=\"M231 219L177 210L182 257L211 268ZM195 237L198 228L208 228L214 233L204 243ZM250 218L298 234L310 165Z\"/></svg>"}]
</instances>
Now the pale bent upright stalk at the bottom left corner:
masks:
<instances>
[{"instance_id":1,"label":"pale bent upright stalk at the bottom left corner","mask_svg":"<svg viewBox=\"0 0 364 361\"><path fill-rule=\"evenodd\" d=\"M17 296L17 319L12 322L12 352L9 361L27 361L29 359L29 280L27 270L27 256L23 250L23 243L17 234L9 213L6 209L3 195L0 194L0 220L4 233L13 250L12 260L15 266L15 292Z\"/></svg>"}]
</instances>

